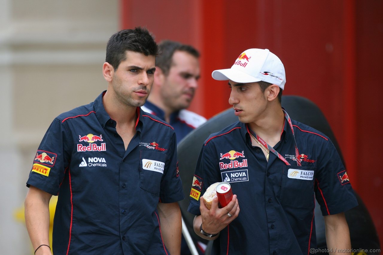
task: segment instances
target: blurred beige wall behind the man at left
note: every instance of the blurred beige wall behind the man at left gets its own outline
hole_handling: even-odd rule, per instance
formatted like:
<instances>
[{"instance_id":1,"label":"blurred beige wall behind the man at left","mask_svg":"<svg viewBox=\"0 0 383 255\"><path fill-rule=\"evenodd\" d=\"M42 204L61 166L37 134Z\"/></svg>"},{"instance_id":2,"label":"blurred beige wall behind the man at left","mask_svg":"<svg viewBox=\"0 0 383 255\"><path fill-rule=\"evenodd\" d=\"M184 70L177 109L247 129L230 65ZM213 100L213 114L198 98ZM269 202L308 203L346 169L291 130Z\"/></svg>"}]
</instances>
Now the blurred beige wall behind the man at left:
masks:
<instances>
[{"instance_id":1,"label":"blurred beige wall behind the man at left","mask_svg":"<svg viewBox=\"0 0 383 255\"><path fill-rule=\"evenodd\" d=\"M93 101L119 29L119 1L0 0L0 247L30 254L23 206L33 157L51 121Z\"/></svg>"}]
</instances>

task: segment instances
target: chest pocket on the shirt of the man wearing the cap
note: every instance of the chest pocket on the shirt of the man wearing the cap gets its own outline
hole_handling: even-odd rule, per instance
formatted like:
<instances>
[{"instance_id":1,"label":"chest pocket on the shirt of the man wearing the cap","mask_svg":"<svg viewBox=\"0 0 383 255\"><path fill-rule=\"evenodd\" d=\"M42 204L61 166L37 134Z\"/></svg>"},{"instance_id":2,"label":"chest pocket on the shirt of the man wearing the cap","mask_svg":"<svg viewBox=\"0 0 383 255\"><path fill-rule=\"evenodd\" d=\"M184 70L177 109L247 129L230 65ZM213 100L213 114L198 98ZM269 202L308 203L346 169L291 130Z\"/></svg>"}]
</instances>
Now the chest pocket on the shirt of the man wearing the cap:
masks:
<instances>
[{"instance_id":1,"label":"chest pocket on the shirt of the man wearing the cap","mask_svg":"<svg viewBox=\"0 0 383 255\"><path fill-rule=\"evenodd\" d=\"M316 167L284 165L279 200L281 204L313 207Z\"/></svg>"}]
</instances>

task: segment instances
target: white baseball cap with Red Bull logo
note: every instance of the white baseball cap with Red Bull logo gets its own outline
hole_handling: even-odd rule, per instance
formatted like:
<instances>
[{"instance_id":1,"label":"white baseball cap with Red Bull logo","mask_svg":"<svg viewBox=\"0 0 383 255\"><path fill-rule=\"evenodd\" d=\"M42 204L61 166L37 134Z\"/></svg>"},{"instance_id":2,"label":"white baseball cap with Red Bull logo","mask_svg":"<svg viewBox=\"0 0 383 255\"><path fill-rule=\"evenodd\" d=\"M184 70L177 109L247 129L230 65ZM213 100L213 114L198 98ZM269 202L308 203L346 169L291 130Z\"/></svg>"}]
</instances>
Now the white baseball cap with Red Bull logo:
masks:
<instances>
[{"instance_id":1,"label":"white baseball cap with Red Bull logo","mask_svg":"<svg viewBox=\"0 0 383 255\"><path fill-rule=\"evenodd\" d=\"M233 82L269 82L285 88L285 67L282 61L268 49L247 49L234 62L230 69L215 70L211 73L215 80Z\"/></svg>"}]
</instances>

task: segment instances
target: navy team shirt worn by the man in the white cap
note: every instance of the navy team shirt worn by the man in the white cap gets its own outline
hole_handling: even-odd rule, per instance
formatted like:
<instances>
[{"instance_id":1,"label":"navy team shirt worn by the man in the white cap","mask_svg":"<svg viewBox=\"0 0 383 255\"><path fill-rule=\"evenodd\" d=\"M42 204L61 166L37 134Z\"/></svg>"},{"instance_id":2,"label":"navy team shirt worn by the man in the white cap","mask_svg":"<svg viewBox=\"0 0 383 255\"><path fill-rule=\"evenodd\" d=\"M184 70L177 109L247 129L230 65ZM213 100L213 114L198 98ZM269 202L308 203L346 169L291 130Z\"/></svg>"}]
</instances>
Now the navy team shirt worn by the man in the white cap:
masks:
<instances>
[{"instance_id":1,"label":"navy team shirt worn by the man in the white cap","mask_svg":"<svg viewBox=\"0 0 383 255\"><path fill-rule=\"evenodd\" d=\"M316 247L315 198L324 216L357 206L347 172L330 139L287 121L276 149L291 164L252 146L247 125L232 124L212 134L198 158L188 211L200 215L199 198L211 184L227 181L241 211L214 240L212 254L309 254ZM303 154L303 155L302 155Z\"/></svg>"}]
</instances>

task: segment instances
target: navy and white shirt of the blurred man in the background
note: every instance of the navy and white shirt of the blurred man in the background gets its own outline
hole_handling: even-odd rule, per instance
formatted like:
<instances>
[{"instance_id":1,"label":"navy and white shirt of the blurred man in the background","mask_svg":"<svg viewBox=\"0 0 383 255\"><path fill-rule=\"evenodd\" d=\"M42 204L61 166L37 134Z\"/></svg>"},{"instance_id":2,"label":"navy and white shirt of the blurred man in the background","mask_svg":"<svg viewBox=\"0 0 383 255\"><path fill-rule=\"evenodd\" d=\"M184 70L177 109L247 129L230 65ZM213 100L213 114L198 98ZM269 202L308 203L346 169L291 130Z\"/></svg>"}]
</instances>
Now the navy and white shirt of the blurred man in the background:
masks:
<instances>
[{"instance_id":1,"label":"navy and white shirt of the blurred man in the background","mask_svg":"<svg viewBox=\"0 0 383 255\"><path fill-rule=\"evenodd\" d=\"M164 111L149 101L146 101L145 105L142 106L142 110L165 120ZM183 109L170 114L169 124L174 127L175 134L177 135L177 141L180 142L187 134L205 122L206 119L203 116Z\"/></svg>"}]
</instances>

